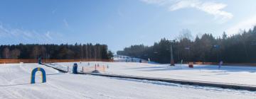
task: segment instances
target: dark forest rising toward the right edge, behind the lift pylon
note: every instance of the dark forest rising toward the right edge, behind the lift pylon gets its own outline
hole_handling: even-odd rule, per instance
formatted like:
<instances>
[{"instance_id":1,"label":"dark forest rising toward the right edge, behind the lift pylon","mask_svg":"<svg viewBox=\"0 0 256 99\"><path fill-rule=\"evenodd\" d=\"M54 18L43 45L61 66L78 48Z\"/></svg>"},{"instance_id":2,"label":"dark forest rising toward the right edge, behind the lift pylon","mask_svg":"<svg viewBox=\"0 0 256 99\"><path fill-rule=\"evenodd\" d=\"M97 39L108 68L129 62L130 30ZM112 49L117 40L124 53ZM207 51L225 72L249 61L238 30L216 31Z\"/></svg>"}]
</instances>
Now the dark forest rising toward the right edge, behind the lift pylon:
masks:
<instances>
[{"instance_id":1,"label":"dark forest rising toward the right edge, behind the lift pylon","mask_svg":"<svg viewBox=\"0 0 256 99\"><path fill-rule=\"evenodd\" d=\"M169 40L161 39L153 46L132 45L117 54L142 59L151 59L159 63L170 63ZM252 30L243 31L236 35L213 37L211 34L196 36L191 40L189 30L183 33L174 42L174 61L177 62L229 62L255 63L256 62L256 26Z\"/></svg>"}]
</instances>

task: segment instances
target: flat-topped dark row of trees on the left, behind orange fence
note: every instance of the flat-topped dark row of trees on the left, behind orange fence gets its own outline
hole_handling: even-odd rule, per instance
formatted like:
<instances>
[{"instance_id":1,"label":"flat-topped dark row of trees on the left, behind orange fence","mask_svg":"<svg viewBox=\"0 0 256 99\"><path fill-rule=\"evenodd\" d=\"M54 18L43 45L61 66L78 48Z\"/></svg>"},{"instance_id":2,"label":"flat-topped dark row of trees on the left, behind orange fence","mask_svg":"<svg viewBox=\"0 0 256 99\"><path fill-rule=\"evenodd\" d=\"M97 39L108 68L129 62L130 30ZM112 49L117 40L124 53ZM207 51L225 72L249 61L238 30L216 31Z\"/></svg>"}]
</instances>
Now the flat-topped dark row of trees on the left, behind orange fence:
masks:
<instances>
[{"instance_id":1,"label":"flat-topped dark row of trees on the left, behind orange fence","mask_svg":"<svg viewBox=\"0 0 256 99\"><path fill-rule=\"evenodd\" d=\"M0 45L0 59L111 59L107 45Z\"/></svg>"}]
</instances>

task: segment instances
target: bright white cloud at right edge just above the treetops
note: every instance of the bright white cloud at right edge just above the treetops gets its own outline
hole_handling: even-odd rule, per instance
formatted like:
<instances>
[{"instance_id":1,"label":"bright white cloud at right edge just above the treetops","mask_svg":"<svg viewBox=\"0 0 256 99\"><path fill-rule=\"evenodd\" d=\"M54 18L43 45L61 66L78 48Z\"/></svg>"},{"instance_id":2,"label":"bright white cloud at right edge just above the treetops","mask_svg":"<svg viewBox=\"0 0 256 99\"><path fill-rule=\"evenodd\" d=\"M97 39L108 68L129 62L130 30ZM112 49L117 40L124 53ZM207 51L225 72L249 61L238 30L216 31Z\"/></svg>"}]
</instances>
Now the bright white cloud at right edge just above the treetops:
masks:
<instances>
[{"instance_id":1,"label":"bright white cloud at right edge just above the treetops","mask_svg":"<svg viewBox=\"0 0 256 99\"><path fill-rule=\"evenodd\" d=\"M256 15L250 16L249 18L245 18L244 20L240 21L239 23L233 25L232 27L225 30L228 35L237 34L240 30L249 30L256 25Z\"/></svg>"}]
</instances>

